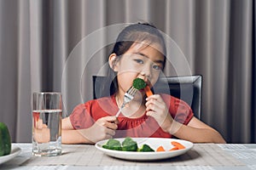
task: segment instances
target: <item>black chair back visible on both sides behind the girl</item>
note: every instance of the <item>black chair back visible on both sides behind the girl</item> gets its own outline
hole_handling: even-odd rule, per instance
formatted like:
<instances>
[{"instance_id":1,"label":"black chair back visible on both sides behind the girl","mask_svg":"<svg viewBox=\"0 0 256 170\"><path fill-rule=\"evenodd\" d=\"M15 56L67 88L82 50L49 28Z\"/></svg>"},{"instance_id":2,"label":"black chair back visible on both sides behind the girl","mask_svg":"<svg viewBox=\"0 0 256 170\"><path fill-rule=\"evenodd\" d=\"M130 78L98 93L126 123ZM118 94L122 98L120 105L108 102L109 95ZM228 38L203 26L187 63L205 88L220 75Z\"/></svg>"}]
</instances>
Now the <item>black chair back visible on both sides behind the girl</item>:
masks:
<instances>
[{"instance_id":1,"label":"black chair back visible on both sides behind the girl","mask_svg":"<svg viewBox=\"0 0 256 170\"><path fill-rule=\"evenodd\" d=\"M107 83L107 77L93 76L93 98L98 99L113 94L113 91L103 90L112 85ZM106 87L107 86L107 87ZM195 117L201 118L201 90L202 76L184 77L160 77L160 80L153 87L155 94L170 94L178 99L182 99L193 110Z\"/></svg>"}]
</instances>

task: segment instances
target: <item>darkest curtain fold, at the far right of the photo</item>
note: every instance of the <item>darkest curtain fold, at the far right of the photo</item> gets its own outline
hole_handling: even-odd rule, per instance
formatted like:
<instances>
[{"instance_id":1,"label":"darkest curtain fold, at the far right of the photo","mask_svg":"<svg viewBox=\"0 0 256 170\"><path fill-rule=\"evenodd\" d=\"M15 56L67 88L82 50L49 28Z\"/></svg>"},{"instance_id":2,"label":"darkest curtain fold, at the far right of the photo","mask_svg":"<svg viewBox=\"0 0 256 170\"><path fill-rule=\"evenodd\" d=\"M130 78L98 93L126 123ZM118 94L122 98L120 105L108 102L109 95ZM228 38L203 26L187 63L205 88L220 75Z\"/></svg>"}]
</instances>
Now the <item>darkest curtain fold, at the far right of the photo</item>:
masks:
<instances>
[{"instance_id":1,"label":"darkest curtain fold, at the far right of the photo","mask_svg":"<svg viewBox=\"0 0 256 170\"><path fill-rule=\"evenodd\" d=\"M227 117L232 120L227 126L230 140L250 140L252 95L252 28L253 2L231 1L230 7L230 55ZM237 36L236 36L237 35ZM251 113L251 114L250 114ZM255 113L254 113L255 114ZM240 128L237 125L241 124ZM234 130L236 129L236 131ZM241 135L237 135L237 133Z\"/></svg>"}]
</instances>

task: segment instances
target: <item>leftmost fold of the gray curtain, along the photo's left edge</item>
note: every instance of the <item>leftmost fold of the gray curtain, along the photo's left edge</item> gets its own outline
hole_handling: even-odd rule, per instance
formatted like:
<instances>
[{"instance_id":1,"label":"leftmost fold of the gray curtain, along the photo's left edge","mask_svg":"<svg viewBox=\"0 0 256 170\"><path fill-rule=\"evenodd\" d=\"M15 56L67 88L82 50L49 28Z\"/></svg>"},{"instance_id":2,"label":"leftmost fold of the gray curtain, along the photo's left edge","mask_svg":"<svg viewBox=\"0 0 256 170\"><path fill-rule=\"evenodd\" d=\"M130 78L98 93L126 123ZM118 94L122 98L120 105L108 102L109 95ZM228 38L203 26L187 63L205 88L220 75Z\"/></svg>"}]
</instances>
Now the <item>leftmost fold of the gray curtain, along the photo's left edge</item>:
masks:
<instances>
[{"instance_id":1,"label":"leftmost fold of the gray curtain, along the photo's left edge","mask_svg":"<svg viewBox=\"0 0 256 170\"><path fill-rule=\"evenodd\" d=\"M18 8L15 1L0 1L0 122L7 124L12 139L18 116Z\"/></svg>"}]
</instances>

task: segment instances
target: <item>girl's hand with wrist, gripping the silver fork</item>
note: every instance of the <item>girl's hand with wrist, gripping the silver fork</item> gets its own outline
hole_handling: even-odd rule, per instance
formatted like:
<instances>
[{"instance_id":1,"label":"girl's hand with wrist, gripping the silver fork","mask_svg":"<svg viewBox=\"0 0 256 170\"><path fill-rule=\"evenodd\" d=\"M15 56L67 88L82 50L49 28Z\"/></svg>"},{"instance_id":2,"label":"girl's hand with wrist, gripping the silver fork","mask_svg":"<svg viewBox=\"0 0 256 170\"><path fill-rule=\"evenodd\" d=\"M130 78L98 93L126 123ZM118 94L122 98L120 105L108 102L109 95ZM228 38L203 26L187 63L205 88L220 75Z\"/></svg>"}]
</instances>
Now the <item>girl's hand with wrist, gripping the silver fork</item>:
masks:
<instances>
[{"instance_id":1,"label":"girl's hand with wrist, gripping the silver fork","mask_svg":"<svg viewBox=\"0 0 256 170\"><path fill-rule=\"evenodd\" d=\"M105 116L98 119L91 127L80 133L88 140L96 143L103 139L111 139L118 128L118 119L115 116Z\"/></svg>"}]
</instances>

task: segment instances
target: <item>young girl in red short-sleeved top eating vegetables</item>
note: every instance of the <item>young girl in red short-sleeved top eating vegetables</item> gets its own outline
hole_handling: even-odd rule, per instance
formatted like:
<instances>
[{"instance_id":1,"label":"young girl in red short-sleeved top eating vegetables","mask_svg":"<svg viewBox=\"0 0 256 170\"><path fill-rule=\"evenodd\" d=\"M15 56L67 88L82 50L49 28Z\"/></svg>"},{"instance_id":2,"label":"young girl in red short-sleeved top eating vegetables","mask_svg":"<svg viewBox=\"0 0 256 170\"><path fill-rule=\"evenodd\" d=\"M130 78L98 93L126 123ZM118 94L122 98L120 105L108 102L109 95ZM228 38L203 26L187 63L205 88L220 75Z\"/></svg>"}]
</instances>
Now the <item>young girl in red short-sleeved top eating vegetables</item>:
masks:
<instances>
[{"instance_id":1,"label":"young girl in red short-sleeved top eating vegetables","mask_svg":"<svg viewBox=\"0 0 256 170\"><path fill-rule=\"evenodd\" d=\"M135 78L150 87L166 63L166 44L160 31L148 24L134 24L120 32L108 57L114 94L74 108L62 120L62 143L94 144L102 139L158 137L191 142L225 143L212 127L193 116L189 105L168 94L146 97L143 90L116 117L125 92ZM113 81L112 81L113 80ZM105 84L105 87L109 87Z\"/></svg>"}]
</instances>

